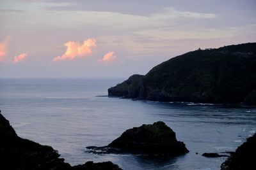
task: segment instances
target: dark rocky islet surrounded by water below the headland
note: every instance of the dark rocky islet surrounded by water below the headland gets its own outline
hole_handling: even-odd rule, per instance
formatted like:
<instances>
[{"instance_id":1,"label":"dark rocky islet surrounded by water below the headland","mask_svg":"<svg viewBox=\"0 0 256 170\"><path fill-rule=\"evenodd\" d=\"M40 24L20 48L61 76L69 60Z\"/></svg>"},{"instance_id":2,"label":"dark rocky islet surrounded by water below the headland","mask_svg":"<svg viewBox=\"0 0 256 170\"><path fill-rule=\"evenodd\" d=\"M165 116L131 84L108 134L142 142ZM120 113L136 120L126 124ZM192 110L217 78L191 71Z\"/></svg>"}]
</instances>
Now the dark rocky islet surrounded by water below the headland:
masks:
<instances>
[{"instance_id":1,"label":"dark rocky islet surrounded by water below the headland","mask_svg":"<svg viewBox=\"0 0 256 170\"><path fill-rule=\"evenodd\" d=\"M108 146L88 146L93 153L134 153L149 155L180 155L188 153L183 142L164 122L141 125L125 131Z\"/></svg>"}]
</instances>

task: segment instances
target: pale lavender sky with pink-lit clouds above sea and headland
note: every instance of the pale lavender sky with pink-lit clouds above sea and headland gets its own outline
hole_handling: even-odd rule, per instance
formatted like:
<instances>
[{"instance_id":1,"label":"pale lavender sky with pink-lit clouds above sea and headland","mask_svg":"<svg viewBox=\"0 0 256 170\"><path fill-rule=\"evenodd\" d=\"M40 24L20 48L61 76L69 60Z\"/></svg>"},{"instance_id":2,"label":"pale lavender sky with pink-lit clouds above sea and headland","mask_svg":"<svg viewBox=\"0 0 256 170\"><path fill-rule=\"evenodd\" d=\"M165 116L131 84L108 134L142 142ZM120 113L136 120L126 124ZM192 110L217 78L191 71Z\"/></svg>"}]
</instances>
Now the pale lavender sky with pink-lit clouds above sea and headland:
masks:
<instances>
[{"instance_id":1,"label":"pale lavender sky with pink-lit clouds above sea and headland","mask_svg":"<svg viewBox=\"0 0 256 170\"><path fill-rule=\"evenodd\" d=\"M127 78L256 42L256 0L0 0L0 78Z\"/></svg>"}]
</instances>

